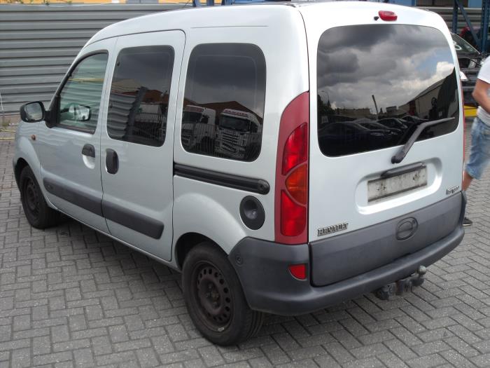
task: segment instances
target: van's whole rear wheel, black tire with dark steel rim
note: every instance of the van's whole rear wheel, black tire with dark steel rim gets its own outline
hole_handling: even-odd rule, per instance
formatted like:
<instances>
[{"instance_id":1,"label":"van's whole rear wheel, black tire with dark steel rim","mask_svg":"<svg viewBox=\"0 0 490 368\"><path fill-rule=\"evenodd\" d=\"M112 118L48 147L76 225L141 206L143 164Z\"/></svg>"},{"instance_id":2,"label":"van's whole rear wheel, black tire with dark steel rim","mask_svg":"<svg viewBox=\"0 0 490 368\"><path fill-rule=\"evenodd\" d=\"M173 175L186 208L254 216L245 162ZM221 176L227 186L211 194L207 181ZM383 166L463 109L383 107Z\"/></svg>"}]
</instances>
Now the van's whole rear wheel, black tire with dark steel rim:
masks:
<instances>
[{"instance_id":1,"label":"van's whole rear wheel, black tire with dark steel rim","mask_svg":"<svg viewBox=\"0 0 490 368\"><path fill-rule=\"evenodd\" d=\"M264 314L248 307L237 273L216 245L205 242L190 250L182 284L190 318L212 343L235 345L260 330Z\"/></svg>"}]
</instances>

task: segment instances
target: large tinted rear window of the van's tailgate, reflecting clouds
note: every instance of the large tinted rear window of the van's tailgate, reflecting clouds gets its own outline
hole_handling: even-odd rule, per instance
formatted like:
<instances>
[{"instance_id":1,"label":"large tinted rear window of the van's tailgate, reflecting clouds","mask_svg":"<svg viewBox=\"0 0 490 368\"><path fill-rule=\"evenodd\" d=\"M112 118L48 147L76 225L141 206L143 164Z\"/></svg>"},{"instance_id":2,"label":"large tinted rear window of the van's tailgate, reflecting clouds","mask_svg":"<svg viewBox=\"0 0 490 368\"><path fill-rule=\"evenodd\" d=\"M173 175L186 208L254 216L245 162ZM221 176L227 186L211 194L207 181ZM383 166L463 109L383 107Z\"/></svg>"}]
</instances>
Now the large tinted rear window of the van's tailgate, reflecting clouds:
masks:
<instances>
[{"instance_id":1,"label":"large tinted rear window of the van's tailgate, reflecting clouds","mask_svg":"<svg viewBox=\"0 0 490 368\"><path fill-rule=\"evenodd\" d=\"M459 96L449 43L437 29L353 25L325 31L317 56L318 144L344 156L405 144L456 129Z\"/></svg>"}]
</instances>

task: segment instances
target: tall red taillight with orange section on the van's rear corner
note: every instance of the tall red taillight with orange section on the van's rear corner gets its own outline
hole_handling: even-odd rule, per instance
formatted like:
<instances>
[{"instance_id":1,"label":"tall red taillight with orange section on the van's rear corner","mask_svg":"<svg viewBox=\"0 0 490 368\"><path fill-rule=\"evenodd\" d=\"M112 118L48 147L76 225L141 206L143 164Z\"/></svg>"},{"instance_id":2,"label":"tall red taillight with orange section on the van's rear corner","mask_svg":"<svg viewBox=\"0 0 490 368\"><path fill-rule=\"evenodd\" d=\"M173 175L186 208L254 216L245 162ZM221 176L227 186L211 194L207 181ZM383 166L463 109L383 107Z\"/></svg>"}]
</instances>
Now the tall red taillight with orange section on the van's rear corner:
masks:
<instances>
[{"instance_id":1,"label":"tall red taillight with orange section on the van's rear corner","mask_svg":"<svg viewBox=\"0 0 490 368\"><path fill-rule=\"evenodd\" d=\"M309 93L284 109L276 160L275 240L304 244L308 240Z\"/></svg>"}]
</instances>

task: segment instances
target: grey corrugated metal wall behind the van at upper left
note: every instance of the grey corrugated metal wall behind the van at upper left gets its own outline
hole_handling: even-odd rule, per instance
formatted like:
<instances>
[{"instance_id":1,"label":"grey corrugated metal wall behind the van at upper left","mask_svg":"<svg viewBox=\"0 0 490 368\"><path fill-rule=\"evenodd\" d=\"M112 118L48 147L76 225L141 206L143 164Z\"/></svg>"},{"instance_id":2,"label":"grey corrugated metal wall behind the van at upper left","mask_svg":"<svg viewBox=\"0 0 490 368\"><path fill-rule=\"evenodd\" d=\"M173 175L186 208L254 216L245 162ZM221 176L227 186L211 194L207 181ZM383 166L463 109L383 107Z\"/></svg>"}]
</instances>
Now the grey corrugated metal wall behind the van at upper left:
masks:
<instances>
[{"instance_id":1,"label":"grey corrugated metal wall behind the van at upper left","mask_svg":"<svg viewBox=\"0 0 490 368\"><path fill-rule=\"evenodd\" d=\"M99 29L183 4L0 5L0 93L4 114L49 102L80 48ZM1 114L1 110L0 110Z\"/></svg>"}]
</instances>

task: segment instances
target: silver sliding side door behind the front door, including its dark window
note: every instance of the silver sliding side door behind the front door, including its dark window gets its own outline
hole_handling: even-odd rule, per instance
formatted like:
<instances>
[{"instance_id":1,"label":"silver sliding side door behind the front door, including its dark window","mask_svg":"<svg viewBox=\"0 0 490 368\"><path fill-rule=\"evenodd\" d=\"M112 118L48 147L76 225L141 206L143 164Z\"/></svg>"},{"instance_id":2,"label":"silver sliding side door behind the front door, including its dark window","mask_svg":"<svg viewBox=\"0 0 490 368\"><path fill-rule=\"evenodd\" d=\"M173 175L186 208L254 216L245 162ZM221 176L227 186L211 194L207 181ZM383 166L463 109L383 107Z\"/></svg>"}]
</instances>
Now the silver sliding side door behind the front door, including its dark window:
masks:
<instances>
[{"instance_id":1,"label":"silver sliding side door behind the front door, including its dark window","mask_svg":"<svg viewBox=\"0 0 490 368\"><path fill-rule=\"evenodd\" d=\"M166 260L184 41L181 31L118 38L101 139L102 210L111 235Z\"/></svg>"}]
</instances>

